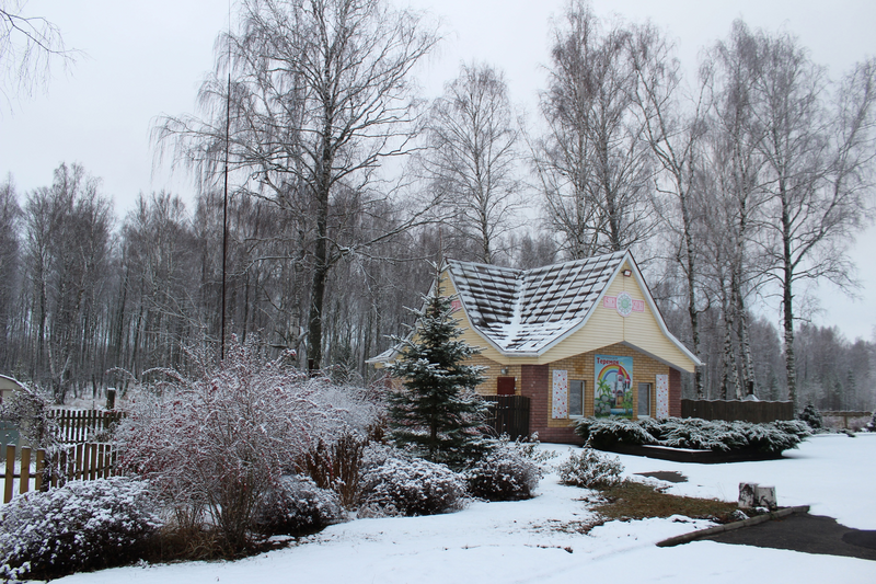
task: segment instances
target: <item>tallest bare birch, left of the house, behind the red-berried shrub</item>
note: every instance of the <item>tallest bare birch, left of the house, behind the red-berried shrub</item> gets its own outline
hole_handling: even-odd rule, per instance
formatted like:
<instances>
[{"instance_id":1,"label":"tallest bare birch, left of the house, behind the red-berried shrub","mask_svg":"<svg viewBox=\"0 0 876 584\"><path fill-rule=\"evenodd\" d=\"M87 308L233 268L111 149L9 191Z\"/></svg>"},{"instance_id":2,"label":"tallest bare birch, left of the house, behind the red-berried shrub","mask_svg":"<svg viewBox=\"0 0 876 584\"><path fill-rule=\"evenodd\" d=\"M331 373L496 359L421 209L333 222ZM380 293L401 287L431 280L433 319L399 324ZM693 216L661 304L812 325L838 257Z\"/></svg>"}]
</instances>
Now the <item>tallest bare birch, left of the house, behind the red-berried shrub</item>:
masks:
<instances>
[{"instance_id":1,"label":"tallest bare birch, left of the house, behind the red-berried shrub","mask_svg":"<svg viewBox=\"0 0 876 584\"><path fill-rule=\"evenodd\" d=\"M332 267L418 220L355 244L342 244L331 232L337 193L381 198L381 161L408 151L416 122L411 71L436 38L420 15L391 11L382 0L247 0L240 34L217 43L218 71L201 90L207 119L168 118L157 130L159 140L177 138L180 158L215 179L231 104L230 159L244 175L240 191L301 210L296 220L311 273L311 367L322 360ZM224 72L235 79L231 95Z\"/></svg>"}]
</instances>

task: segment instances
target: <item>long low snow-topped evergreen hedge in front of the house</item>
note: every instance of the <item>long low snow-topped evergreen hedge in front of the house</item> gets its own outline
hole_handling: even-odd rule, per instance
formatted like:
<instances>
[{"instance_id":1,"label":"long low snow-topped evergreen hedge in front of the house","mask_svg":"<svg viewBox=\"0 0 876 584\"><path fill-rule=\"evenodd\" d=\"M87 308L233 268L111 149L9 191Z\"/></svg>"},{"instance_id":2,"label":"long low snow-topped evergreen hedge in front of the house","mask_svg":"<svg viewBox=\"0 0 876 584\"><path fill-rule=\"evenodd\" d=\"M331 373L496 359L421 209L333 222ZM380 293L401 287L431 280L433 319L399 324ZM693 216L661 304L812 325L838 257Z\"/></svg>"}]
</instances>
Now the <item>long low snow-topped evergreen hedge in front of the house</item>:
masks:
<instances>
[{"instance_id":1,"label":"long low snow-topped evergreen hedge in front of the house","mask_svg":"<svg viewBox=\"0 0 876 584\"><path fill-rule=\"evenodd\" d=\"M779 455L811 434L808 424L798 420L769 424L707 421L696 417L666 420L585 417L575 432L597 448L614 444L655 444L703 450L744 450Z\"/></svg>"}]
</instances>

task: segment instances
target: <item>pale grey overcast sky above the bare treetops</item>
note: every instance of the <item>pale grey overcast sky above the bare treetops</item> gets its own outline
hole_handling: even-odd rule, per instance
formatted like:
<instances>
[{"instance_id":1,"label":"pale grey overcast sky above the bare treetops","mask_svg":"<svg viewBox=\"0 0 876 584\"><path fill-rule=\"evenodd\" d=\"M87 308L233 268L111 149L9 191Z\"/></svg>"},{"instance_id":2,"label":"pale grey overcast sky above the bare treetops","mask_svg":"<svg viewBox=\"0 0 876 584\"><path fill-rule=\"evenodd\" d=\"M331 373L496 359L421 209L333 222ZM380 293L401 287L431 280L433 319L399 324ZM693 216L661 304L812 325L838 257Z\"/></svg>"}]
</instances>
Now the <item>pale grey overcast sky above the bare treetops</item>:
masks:
<instances>
[{"instance_id":1,"label":"pale grey overcast sky above the bare treetops","mask_svg":"<svg viewBox=\"0 0 876 584\"><path fill-rule=\"evenodd\" d=\"M401 4L402 2L396 2ZM460 62L505 71L512 101L530 119L544 87L551 18L564 0L413 0L442 22L443 43L420 72L426 96L457 76ZM727 35L734 19L750 27L786 30L828 67L831 78L876 55L873 0L593 0L600 16L650 19L694 70L701 49ZM119 217L139 192L172 190L192 201L188 178L154 168L149 133L162 114L194 112L200 80L212 65L217 34L228 26L227 0L39 0L25 12L58 25L68 47L83 56L65 73L53 69L44 93L0 108L0 175L12 173L20 196L51 182L60 162L80 162L103 180ZM876 334L876 229L853 251L863 288L857 300L830 285L818 298L815 322L837 324L851 340ZM773 308L768 311L775 316Z\"/></svg>"}]
</instances>

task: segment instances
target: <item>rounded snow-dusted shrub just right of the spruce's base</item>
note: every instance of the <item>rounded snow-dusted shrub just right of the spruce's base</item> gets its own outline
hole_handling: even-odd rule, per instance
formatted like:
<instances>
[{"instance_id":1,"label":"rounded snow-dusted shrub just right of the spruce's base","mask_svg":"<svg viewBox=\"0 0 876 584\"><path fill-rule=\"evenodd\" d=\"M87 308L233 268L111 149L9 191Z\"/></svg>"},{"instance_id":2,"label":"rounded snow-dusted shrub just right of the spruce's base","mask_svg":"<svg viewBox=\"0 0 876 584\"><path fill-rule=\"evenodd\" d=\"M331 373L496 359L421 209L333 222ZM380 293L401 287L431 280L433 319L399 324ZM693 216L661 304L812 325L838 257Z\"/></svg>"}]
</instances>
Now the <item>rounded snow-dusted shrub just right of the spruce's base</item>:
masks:
<instances>
[{"instance_id":1,"label":"rounded snow-dusted shrub just right of the spruce's base","mask_svg":"<svg viewBox=\"0 0 876 584\"><path fill-rule=\"evenodd\" d=\"M539 485L541 468L528 454L534 445L510 442L503 436L465 472L469 493L488 501L529 499Z\"/></svg>"}]
</instances>

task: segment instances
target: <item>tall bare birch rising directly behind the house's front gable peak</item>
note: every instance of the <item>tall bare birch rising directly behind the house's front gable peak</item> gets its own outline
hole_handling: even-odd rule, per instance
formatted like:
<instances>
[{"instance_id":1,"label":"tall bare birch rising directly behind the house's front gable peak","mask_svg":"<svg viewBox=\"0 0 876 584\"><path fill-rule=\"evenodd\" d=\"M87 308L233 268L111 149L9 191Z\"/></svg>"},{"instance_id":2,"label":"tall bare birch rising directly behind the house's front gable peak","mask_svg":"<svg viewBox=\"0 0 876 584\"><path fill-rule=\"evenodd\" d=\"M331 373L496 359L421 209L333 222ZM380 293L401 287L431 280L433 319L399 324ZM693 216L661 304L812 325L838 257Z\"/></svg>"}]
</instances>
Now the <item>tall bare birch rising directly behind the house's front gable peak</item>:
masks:
<instances>
[{"instance_id":1,"label":"tall bare birch rising directly behind the house's front gable peak","mask_svg":"<svg viewBox=\"0 0 876 584\"><path fill-rule=\"evenodd\" d=\"M633 101L632 34L620 24L602 32L580 1L569 3L554 31L541 96L550 129L535 145L535 169L548 224L572 257L630 248L654 227L652 158Z\"/></svg>"}]
</instances>

